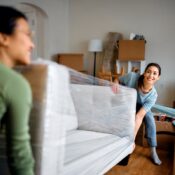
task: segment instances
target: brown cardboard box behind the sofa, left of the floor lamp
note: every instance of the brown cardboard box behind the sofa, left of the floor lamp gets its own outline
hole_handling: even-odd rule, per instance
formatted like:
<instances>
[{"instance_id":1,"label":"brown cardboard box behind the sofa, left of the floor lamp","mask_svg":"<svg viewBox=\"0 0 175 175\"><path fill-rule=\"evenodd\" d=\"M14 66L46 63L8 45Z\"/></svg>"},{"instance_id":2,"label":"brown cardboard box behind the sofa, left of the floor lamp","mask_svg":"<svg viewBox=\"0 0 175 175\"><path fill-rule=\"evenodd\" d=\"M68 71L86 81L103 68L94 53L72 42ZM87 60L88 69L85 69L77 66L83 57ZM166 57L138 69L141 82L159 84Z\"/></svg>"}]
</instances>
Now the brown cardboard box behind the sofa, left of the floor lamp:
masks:
<instances>
[{"instance_id":1,"label":"brown cardboard box behind the sofa, left of the floor lamp","mask_svg":"<svg viewBox=\"0 0 175 175\"><path fill-rule=\"evenodd\" d=\"M61 53L58 54L58 63L77 71L84 70L83 54L81 53Z\"/></svg>"}]
</instances>

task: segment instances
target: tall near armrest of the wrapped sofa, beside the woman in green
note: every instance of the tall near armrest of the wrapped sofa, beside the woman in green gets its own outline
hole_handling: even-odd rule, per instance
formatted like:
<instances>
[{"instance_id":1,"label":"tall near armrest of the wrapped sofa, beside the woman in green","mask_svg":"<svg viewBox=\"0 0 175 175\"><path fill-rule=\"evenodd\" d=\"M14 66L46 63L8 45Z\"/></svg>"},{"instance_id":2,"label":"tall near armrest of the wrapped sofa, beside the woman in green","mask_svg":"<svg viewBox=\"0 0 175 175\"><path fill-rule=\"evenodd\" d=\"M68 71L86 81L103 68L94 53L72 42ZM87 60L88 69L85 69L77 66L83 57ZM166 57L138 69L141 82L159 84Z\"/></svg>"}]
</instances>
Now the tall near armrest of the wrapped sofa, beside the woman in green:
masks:
<instances>
[{"instance_id":1,"label":"tall near armrest of the wrapped sofa, beside the woman in green","mask_svg":"<svg viewBox=\"0 0 175 175\"><path fill-rule=\"evenodd\" d=\"M35 174L62 174L64 161L64 99L69 89L67 69L57 63L39 62L17 68L33 94L30 116Z\"/></svg>"}]
</instances>

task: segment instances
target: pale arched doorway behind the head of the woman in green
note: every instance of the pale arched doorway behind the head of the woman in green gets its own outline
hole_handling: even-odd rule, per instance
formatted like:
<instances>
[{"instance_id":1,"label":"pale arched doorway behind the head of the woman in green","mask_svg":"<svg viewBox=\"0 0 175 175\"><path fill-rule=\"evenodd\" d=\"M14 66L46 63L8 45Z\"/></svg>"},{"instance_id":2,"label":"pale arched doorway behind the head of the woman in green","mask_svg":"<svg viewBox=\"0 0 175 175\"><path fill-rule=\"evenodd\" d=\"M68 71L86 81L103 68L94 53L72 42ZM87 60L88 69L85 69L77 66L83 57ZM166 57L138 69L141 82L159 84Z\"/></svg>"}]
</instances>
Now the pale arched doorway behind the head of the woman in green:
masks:
<instances>
[{"instance_id":1,"label":"pale arched doorway behind the head of the woman in green","mask_svg":"<svg viewBox=\"0 0 175 175\"><path fill-rule=\"evenodd\" d=\"M46 41L47 39L47 21L48 16L44 10L29 3L19 3L16 8L22 11L28 18L30 28L33 32L33 42L35 48L32 51L31 59L37 58L47 59L49 49Z\"/></svg>"}]
</instances>

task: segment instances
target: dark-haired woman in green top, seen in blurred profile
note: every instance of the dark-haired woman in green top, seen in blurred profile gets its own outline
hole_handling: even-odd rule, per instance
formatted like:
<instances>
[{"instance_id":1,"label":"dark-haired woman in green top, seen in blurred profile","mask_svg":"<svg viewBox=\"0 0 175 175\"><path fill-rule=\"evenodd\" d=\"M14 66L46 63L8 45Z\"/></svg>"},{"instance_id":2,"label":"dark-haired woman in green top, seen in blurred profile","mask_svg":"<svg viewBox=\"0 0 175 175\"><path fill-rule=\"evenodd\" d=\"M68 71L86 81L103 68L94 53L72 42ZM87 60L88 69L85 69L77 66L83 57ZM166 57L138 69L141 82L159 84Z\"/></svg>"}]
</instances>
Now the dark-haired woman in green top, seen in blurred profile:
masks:
<instances>
[{"instance_id":1,"label":"dark-haired woman in green top, seen in blurred profile","mask_svg":"<svg viewBox=\"0 0 175 175\"><path fill-rule=\"evenodd\" d=\"M26 16L12 7L0 6L0 120L5 125L8 165L15 175L34 174L28 125L31 89L12 69L29 64L33 48Z\"/></svg>"}]
</instances>

